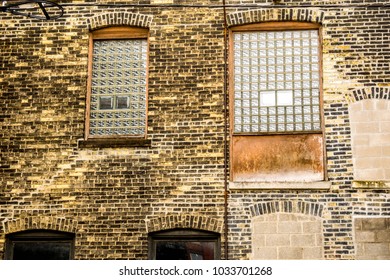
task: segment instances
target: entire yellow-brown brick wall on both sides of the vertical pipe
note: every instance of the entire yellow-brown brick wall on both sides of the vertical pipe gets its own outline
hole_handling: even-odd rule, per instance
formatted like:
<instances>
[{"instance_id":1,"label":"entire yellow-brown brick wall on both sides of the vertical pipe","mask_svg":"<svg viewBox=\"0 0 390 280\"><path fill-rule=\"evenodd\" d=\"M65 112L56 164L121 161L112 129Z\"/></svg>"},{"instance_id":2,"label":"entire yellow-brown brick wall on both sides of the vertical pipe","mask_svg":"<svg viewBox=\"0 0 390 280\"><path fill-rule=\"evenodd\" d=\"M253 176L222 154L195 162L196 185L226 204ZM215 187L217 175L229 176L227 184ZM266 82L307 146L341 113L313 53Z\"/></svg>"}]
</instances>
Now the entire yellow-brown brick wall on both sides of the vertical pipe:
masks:
<instances>
[{"instance_id":1,"label":"entire yellow-brown brick wall on both sides of the vertical pipe","mask_svg":"<svg viewBox=\"0 0 390 280\"><path fill-rule=\"evenodd\" d=\"M65 6L65 16L50 22L1 15L0 255L7 233L34 228L74 232L76 259L146 259L148 232L173 227L218 232L224 248L221 1L194 8L193 1L128 2L144 6ZM353 259L353 217L390 214L383 178L356 182L349 118L359 94L388 93L388 8L364 7L368 0L282 0L270 9L271 2L226 1L251 5L227 9L228 24L322 24L330 187L230 184L229 258L253 256L252 223L262 213L289 213L321 221L324 258ZM81 147L89 29L127 23L150 30L150 145Z\"/></svg>"}]
</instances>

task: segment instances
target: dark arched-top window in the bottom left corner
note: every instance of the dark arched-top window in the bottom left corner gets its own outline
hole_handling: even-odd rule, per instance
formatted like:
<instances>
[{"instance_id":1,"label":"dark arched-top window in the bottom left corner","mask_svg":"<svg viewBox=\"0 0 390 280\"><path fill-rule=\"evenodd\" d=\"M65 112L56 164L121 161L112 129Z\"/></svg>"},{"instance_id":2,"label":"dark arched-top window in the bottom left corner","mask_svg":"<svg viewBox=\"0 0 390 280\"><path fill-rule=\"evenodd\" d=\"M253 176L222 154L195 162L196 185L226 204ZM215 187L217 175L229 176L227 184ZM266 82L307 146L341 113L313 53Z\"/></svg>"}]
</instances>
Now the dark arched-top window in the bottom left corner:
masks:
<instances>
[{"instance_id":1,"label":"dark arched-top window in the bottom left corner","mask_svg":"<svg viewBox=\"0 0 390 280\"><path fill-rule=\"evenodd\" d=\"M74 234L31 230L6 236L5 257L9 260L70 260L74 253Z\"/></svg>"}]
</instances>

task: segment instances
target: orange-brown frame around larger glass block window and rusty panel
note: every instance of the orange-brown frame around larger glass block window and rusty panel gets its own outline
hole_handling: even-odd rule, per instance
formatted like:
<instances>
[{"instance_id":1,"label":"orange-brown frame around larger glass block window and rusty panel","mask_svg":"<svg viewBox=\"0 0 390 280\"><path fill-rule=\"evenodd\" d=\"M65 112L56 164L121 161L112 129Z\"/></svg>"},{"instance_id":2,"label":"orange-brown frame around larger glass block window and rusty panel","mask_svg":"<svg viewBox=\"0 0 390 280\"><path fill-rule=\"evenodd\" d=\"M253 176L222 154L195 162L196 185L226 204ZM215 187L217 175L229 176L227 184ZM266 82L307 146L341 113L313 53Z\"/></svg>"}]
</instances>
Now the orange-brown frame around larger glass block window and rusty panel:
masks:
<instances>
[{"instance_id":1,"label":"orange-brown frame around larger glass block window and rusty panel","mask_svg":"<svg viewBox=\"0 0 390 280\"><path fill-rule=\"evenodd\" d=\"M320 130L316 131L269 131L269 132L235 132L234 131L234 102L235 102L235 74L234 74L234 33L237 32L251 32L251 31L294 31L294 30L318 30L318 68L319 68L319 110L320 110ZM327 172L326 172L326 148L325 148L325 125L324 125L324 108L323 108L323 81L322 81L322 26L318 23L310 23L310 22L262 22L262 23L254 23L247 24L241 26L233 26L229 29L229 111L230 111L230 162L231 162L231 172L230 172L230 181L236 181L236 171L235 171L235 141L236 139L247 138L249 143L252 141L256 141L256 137L279 137L276 139L281 139L283 135L287 137L310 137L310 135L318 135L318 137L322 138L322 174L323 180L327 180ZM306 135L306 136L305 136ZM260 138L258 138L260 139ZM281 142L280 142L281 143ZM240 182L240 181L237 181ZM266 182L266 181L256 181L256 182Z\"/></svg>"}]
</instances>

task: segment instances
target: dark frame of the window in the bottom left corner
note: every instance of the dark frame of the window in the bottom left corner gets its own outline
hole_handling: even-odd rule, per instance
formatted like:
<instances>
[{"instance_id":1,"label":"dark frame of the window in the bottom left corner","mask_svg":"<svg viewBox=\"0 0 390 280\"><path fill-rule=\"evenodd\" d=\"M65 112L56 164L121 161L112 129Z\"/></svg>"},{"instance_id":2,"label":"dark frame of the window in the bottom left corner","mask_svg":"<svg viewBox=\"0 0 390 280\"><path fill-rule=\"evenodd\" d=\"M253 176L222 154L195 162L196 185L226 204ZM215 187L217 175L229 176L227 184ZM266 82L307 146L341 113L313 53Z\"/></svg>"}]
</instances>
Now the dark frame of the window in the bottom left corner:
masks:
<instances>
[{"instance_id":1,"label":"dark frame of the window in the bottom left corner","mask_svg":"<svg viewBox=\"0 0 390 280\"><path fill-rule=\"evenodd\" d=\"M14 259L14 245L16 243L26 242L56 242L56 243L67 243L69 244L69 260L74 259L75 251L75 234L70 232L62 232L55 230L26 230L15 232L6 235L5 242L5 254L6 260Z\"/></svg>"}]
</instances>

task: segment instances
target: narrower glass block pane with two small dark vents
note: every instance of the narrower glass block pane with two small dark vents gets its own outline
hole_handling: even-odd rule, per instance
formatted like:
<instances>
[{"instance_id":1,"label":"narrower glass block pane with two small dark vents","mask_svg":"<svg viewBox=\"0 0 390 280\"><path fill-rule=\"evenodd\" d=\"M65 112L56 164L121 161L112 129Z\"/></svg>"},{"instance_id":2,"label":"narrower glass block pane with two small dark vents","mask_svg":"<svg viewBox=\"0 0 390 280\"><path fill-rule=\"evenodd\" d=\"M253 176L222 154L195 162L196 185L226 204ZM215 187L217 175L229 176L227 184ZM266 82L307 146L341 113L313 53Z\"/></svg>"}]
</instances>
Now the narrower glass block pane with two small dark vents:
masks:
<instances>
[{"instance_id":1,"label":"narrower glass block pane with two small dark vents","mask_svg":"<svg viewBox=\"0 0 390 280\"><path fill-rule=\"evenodd\" d=\"M144 135L147 40L95 40L89 135Z\"/></svg>"}]
</instances>

